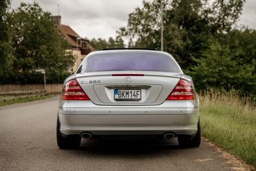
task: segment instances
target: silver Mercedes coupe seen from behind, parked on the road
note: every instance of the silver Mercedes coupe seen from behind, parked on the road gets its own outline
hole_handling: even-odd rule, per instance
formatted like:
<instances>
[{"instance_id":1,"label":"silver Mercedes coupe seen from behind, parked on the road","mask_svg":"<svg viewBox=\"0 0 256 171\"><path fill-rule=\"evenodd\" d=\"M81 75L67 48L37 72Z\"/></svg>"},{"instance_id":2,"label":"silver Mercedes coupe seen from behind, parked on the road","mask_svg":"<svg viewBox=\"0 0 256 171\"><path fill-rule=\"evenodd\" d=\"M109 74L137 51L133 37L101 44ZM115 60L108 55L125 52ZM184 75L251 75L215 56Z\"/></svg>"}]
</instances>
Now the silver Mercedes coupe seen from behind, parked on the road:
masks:
<instances>
[{"instance_id":1,"label":"silver Mercedes coupe seen from behind, parked on the road","mask_svg":"<svg viewBox=\"0 0 256 171\"><path fill-rule=\"evenodd\" d=\"M199 99L191 77L167 52L92 52L65 79L57 119L61 149L81 138L178 137L181 147L201 142Z\"/></svg>"}]
</instances>

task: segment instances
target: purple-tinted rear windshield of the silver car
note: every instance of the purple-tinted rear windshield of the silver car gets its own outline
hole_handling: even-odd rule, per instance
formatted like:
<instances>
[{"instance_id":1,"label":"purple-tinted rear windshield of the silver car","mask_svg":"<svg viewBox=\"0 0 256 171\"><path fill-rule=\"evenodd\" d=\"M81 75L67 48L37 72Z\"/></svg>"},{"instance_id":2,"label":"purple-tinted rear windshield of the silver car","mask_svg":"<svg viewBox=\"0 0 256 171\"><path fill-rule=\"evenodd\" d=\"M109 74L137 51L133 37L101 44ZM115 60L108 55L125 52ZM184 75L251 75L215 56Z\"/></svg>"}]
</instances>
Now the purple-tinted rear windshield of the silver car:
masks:
<instances>
[{"instance_id":1,"label":"purple-tinted rear windshield of the silver car","mask_svg":"<svg viewBox=\"0 0 256 171\"><path fill-rule=\"evenodd\" d=\"M91 54L82 62L82 73L97 71L164 71L181 73L167 54L148 52Z\"/></svg>"}]
</instances>

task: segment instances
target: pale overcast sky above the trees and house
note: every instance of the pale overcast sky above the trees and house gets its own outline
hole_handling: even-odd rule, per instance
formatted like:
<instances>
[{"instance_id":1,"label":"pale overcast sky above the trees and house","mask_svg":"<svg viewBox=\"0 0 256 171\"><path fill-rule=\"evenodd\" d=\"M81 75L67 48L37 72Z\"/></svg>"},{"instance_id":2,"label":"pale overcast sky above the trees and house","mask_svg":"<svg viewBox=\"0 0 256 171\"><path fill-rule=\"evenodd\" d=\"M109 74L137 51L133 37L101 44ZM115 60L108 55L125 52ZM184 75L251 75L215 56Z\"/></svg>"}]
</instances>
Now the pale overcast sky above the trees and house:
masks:
<instances>
[{"instance_id":1,"label":"pale overcast sky above the trees and house","mask_svg":"<svg viewBox=\"0 0 256 171\"><path fill-rule=\"evenodd\" d=\"M126 26L128 14L142 7L142 0L11 0L12 8L20 2L33 1L53 15L61 15L61 22L71 26L81 37L115 37L116 30ZM246 0L239 24L256 29L256 0Z\"/></svg>"}]
</instances>

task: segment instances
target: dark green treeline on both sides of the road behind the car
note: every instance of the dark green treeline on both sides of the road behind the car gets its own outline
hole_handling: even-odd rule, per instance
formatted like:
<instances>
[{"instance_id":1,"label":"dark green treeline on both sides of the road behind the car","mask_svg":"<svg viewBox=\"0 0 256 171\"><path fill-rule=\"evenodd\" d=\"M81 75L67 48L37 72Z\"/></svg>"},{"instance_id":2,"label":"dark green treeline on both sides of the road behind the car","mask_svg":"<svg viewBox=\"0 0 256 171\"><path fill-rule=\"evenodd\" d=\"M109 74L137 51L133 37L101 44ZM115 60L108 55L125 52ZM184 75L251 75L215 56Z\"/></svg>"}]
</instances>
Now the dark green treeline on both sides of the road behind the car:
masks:
<instances>
[{"instance_id":1,"label":"dark green treeline on both sides of the road behind the car","mask_svg":"<svg viewBox=\"0 0 256 171\"><path fill-rule=\"evenodd\" d=\"M256 31L236 26L244 0L162 1L164 50L193 77L197 90L234 89L255 96ZM92 39L91 44L97 50L160 50L160 14L159 0L144 1L115 38ZM36 3L10 10L10 1L1 1L0 15L1 84L41 82L43 75L36 69L46 69L51 83L70 74L74 58L50 13Z\"/></svg>"}]
</instances>

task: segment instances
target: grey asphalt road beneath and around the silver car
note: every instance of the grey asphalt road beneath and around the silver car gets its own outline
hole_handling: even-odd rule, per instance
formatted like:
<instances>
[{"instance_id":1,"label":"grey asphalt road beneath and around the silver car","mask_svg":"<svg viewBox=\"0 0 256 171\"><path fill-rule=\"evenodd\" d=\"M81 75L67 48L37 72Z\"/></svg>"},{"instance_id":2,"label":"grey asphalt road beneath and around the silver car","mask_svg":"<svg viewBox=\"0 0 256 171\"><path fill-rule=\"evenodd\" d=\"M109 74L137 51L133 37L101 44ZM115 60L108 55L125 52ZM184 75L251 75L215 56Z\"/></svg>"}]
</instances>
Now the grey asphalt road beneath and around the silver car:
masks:
<instances>
[{"instance_id":1,"label":"grey asphalt road beneath and around the silver car","mask_svg":"<svg viewBox=\"0 0 256 171\"><path fill-rule=\"evenodd\" d=\"M56 142L57 98L0 107L0 170L234 170L203 140L181 149L177 140L82 140L61 150ZM240 168L241 169L241 168Z\"/></svg>"}]
</instances>

